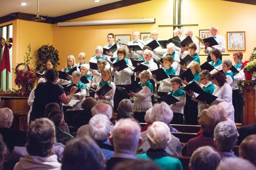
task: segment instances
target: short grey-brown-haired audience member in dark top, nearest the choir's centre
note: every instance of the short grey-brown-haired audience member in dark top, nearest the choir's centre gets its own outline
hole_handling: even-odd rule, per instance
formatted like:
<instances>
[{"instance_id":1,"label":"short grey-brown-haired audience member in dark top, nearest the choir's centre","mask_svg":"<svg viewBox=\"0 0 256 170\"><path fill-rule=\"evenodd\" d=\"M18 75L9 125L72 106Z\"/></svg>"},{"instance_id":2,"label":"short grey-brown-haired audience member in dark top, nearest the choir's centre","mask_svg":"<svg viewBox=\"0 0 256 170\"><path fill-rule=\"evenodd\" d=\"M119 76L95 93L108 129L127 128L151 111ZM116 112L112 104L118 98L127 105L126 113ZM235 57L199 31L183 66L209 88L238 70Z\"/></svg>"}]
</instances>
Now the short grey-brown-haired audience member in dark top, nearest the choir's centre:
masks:
<instances>
[{"instance_id":1,"label":"short grey-brown-haired audience member in dark top, nearest the choir's centre","mask_svg":"<svg viewBox=\"0 0 256 170\"><path fill-rule=\"evenodd\" d=\"M116 120L122 119L122 118L133 118L130 114L132 112L132 102L130 99L123 99L121 102L119 102L117 107L117 118Z\"/></svg>"}]
</instances>

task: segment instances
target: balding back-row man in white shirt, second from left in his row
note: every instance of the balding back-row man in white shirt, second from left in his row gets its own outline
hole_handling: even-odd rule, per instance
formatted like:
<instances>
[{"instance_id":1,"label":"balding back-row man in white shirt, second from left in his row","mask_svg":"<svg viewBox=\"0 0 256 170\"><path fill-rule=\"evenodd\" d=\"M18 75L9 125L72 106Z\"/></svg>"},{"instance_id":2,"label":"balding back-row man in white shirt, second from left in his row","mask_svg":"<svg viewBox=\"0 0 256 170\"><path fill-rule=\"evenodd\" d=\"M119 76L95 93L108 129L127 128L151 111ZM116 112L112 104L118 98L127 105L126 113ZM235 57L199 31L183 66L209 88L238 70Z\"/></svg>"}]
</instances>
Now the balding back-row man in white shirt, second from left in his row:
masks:
<instances>
[{"instance_id":1,"label":"balding back-row man in white shirt, second from left in his row","mask_svg":"<svg viewBox=\"0 0 256 170\"><path fill-rule=\"evenodd\" d=\"M145 46L145 42L139 39L139 31L132 32L132 41L128 42L128 45L139 45L141 49ZM127 58L139 59L142 56L142 50L134 51L132 48L129 49Z\"/></svg>"}]
</instances>

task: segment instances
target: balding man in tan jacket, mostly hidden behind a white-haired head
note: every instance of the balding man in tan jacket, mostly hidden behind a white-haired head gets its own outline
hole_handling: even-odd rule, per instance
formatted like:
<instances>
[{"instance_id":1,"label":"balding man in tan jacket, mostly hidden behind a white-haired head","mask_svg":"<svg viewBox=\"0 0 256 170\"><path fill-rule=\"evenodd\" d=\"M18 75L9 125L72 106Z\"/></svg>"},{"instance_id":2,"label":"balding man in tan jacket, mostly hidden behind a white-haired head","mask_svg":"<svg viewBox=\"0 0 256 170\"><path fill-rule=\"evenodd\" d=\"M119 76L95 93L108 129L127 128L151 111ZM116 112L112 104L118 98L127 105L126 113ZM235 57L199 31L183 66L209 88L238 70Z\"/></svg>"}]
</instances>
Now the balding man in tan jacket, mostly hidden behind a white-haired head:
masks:
<instances>
[{"instance_id":1,"label":"balding man in tan jacket, mostly hidden behind a white-haired head","mask_svg":"<svg viewBox=\"0 0 256 170\"><path fill-rule=\"evenodd\" d=\"M113 113L112 107L109 104L105 104L105 103L96 104L93 108L91 108L92 116L94 116L96 114L102 114L102 115L106 115L108 117L108 119L110 120L112 117L112 113ZM112 129L113 129L113 126L111 125L111 131L112 131ZM79 127L79 129L77 130L76 137L81 137L84 135L89 136L89 125L88 124Z\"/></svg>"}]
</instances>

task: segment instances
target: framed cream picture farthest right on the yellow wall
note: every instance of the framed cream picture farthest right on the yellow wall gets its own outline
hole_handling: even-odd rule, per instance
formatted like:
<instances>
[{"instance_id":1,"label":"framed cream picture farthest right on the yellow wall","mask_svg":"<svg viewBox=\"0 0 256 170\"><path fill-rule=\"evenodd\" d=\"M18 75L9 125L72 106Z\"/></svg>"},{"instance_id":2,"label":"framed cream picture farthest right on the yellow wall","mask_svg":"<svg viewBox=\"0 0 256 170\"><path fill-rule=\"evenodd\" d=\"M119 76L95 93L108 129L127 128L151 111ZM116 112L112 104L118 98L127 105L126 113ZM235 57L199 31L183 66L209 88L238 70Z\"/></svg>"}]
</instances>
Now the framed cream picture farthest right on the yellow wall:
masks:
<instances>
[{"instance_id":1,"label":"framed cream picture farthest right on the yellow wall","mask_svg":"<svg viewBox=\"0 0 256 170\"><path fill-rule=\"evenodd\" d=\"M245 50L245 31L227 32L228 50Z\"/></svg>"}]
</instances>

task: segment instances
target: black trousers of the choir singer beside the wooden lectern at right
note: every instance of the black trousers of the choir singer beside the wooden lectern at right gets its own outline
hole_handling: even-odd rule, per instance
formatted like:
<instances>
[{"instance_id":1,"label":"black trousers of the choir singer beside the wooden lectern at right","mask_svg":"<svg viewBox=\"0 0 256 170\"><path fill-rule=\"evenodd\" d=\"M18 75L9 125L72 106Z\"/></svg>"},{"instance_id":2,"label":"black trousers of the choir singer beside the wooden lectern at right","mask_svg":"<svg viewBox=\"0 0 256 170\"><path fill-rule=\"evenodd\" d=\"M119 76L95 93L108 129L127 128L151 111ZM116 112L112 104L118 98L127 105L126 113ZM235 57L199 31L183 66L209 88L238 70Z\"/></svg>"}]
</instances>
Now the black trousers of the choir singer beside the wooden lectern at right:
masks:
<instances>
[{"instance_id":1,"label":"black trousers of the choir singer beside the wooden lectern at right","mask_svg":"<svg viewBox=\"0 0 256 170\"><path fill-rule=\"evenodd\" d=\"M234 106L234 121L243 123L243 96L239 89L232 90L232 104Z\"/></svg>"}]
</instances>

